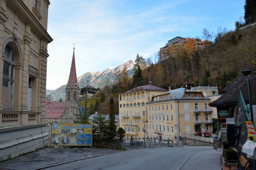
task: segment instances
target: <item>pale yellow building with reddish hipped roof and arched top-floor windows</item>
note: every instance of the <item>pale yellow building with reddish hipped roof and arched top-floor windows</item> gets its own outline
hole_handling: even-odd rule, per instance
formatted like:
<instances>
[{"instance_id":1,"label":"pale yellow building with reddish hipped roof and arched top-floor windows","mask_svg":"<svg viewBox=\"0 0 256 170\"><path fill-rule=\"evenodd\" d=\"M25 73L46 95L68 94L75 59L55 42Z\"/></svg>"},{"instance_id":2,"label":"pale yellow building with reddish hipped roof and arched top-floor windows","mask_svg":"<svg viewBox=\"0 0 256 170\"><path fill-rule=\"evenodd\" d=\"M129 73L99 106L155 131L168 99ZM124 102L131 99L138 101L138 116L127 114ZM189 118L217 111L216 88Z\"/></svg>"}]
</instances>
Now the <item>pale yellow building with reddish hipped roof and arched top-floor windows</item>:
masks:
<instances>
[{"instance_id":1,"label":"pale yellow building with reddish hipped roof and arched top-floor windows","mask_svg":"<svg viewBox=\"0 0 256 170\"><path fill-rule=\"evenodd\" d=\"M146 104L150 102L152 96L163 94L167 91L154 85L144 85L118 95L119 126L125 130L125 138L144 137L144 120L145 127L147 127L148 121ZM143 113L145 113L144 116ZM148 136L147 131L145 136Z\"/></svg>"}]
</instances>

